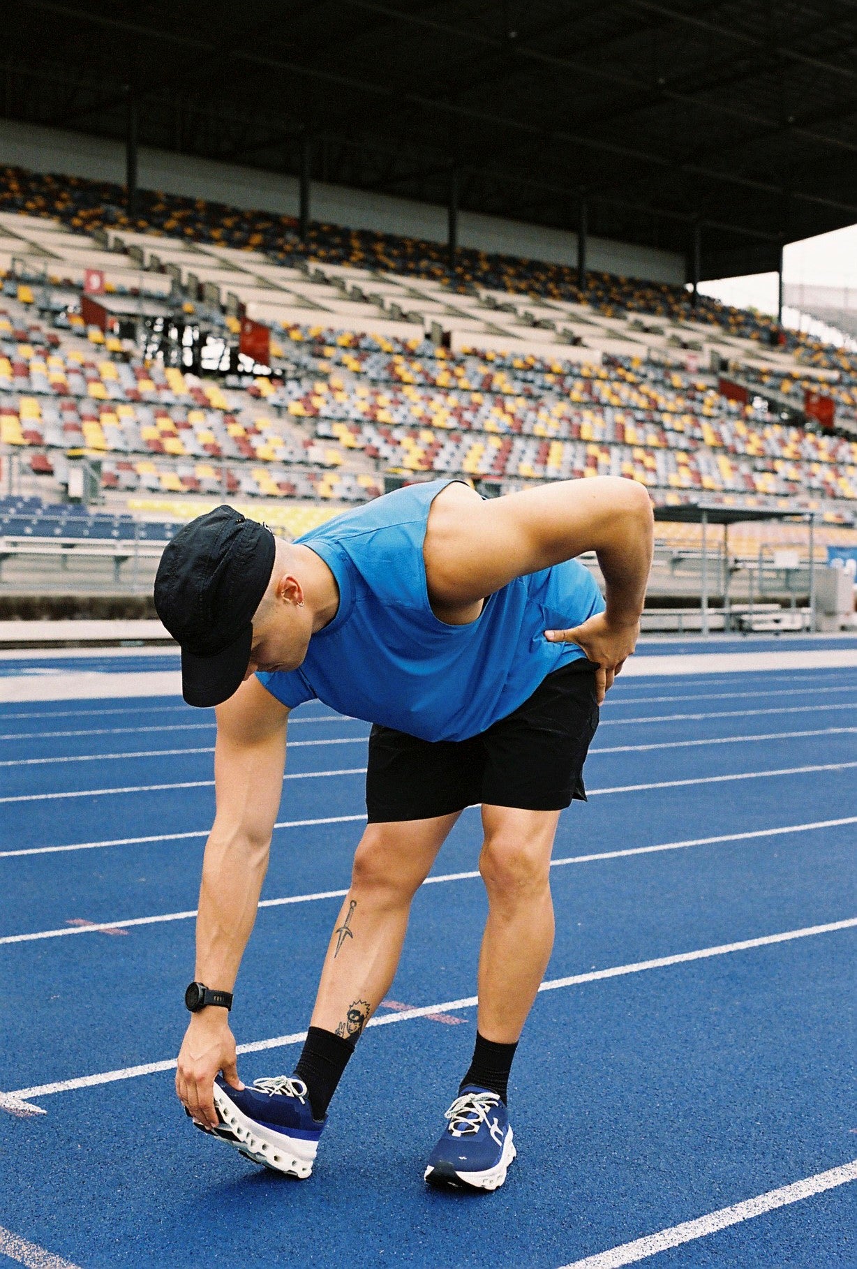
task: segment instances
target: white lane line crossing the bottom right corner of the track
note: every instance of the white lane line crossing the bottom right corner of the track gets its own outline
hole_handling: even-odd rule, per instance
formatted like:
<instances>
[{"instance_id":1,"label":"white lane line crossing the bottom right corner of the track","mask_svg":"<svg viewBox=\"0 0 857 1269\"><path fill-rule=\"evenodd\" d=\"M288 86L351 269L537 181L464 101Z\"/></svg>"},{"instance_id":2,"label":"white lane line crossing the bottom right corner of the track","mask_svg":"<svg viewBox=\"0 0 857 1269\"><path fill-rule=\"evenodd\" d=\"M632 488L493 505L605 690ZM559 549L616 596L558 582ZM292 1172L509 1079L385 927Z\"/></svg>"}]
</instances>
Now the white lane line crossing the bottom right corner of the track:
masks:
<instances>
[{"instance_id":1,"label":"white lane line crossing the bottom right corner of the track","mask_svg":"<svg viewBox=\"0 0 857 1269\"><path fill-rule=\"evenodd\" d=\"M825 1173L816 1173L815 1176L792 1181L791 1185L781 1185L776 1190L744 1199L743 1203L721 1207L716 1212L698 1216L694 1221L684 1221L682 1225L659 1230L658 1233L648 1233L642 1239L635 1239L634 1242L623 1242L618 1247L611 1247L609 1251L599 1251L594 1256L575 1260L573 1264L564 1265L564 1269L620 1269L621 1265L636 1264L637 1260L646 1260L649 1256L658 1255L659 1251L678 1247L694 1239L703 1239L707 1233L716 1233L717 1230L726 1230L730 1225L739 1225L754 1216L763 1216L764 1212L774 1212L778 1207L799 1203L813 1194L821 1194L824 1190L835 1189L837 1185L846 1185L853 1180L857 1180L857 1159L849 1164L842 1164L839 1167L829 1167Z\"/></svg>"}]
</instances>

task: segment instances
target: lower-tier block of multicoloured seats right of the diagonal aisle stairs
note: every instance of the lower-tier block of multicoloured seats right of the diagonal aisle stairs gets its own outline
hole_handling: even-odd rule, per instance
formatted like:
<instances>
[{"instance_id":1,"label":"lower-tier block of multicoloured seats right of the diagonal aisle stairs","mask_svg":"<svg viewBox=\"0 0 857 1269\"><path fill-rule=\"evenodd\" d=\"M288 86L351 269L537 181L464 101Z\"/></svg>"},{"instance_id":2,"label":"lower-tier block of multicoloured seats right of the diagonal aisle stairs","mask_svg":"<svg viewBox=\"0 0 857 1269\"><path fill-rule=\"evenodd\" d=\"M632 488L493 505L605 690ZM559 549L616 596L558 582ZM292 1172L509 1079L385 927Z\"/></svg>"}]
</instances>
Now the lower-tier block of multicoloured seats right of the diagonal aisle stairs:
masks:
<instances>
[{"instance_id":1,"label":"lower-tier block of multicoloured seats right of the diagonal aisle stairs","mask_svg":"<svg viewBox=\"0 0 857 1269\"><path fill-rule=\"evenodd\" d=\"M284 336L309 343L306 331ZM677 371L617 359L571 368L533 357L456 358L428 344L375 343L319 340L329 378L284 385L269 400L315 419L321 439L406 472L613 475L653 491L857 497L857 443L785 426Z\"/></svg>"}]
</instances>

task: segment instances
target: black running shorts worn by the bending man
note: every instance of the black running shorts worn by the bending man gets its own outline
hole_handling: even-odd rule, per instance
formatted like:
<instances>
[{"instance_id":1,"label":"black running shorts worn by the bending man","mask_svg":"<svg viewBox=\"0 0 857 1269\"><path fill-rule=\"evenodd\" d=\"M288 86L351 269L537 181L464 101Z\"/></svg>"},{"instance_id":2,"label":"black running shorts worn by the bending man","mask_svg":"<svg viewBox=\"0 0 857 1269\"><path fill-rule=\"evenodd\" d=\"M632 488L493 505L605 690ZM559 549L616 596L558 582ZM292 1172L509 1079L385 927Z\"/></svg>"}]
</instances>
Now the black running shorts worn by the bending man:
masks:
<instances>
[{"instance_id":1,"label":"black running shorts worn by the bending man","mask_svg":"<svg viewBox=\"0 0 857 1269\"><path fill-rule=\"evenodd\" d=\"M560 811L585 802L583 764L598 726L595 666L554 670L522 706L470 740L419 740L377 723L369 735L369 824L428 820L486 802Z\"/></svg>"}]
</instances>

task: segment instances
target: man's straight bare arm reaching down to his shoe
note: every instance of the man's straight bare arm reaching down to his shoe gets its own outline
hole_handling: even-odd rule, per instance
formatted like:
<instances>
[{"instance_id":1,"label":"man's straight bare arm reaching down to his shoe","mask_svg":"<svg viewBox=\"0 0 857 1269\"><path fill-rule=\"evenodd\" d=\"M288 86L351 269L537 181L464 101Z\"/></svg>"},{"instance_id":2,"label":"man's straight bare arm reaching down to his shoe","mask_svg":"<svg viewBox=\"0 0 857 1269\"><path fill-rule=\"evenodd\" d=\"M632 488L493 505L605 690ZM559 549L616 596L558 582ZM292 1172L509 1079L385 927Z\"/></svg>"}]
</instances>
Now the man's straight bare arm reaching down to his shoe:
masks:
<instances>
[{"instance_id":1,"label":"man's straight bare arm reaching down to his shoe","mask_svg":"<svg viewBox=\"0 0 857 1269\"><path fill-rule=\"evenodd\" d=\"M250 938L283 787L288 711L256 679L217 708L217 811L202 865L194 978L231 991ZM215 1076L240 1088L226 1009L190 1015L175 1091L194 1119L217 1127Z\"/></svg>"}]
</instances>

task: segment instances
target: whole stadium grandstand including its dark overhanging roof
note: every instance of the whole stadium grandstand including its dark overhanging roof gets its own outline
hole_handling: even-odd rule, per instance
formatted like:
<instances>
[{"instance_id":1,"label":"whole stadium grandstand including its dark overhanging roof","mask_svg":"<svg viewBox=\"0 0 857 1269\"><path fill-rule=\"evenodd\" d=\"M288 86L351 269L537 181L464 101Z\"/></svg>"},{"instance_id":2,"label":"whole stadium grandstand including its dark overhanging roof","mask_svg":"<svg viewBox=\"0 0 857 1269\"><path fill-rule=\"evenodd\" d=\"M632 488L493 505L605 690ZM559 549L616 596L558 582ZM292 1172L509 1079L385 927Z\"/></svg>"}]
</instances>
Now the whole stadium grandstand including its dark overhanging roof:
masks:
<instances>
[{"instance_id":1,"label":"whole stadium grandstand including its dark overhanging roof","mask_svg":"<svg viewBox=\"0 0 857 1269\"><path fill-rule=\"evenodd\" d=\"M230 49L232 74L217 102L222 138L213 142L202 126L213 108L202 86L188 86L170 133L143 63L121 79L109 66L110 49L146 44L174 84L192 47L203 63L216 58L202 37L176 39L171 22L108 16L93 5L15 6L13 38L24 38L28 9L51 14L51 34L39 60L10 70L6 81L15 118L0 162L5 154L29 165L0 169L6 494L76 500L70 489L86 466L98 472L104 505L140 522L178 523L230 499L291 533L433 473L463 476L488 494L621 475L644 482L665 508L708 501L735 513L813 513L814 551L827 563L828 549L853 538L857 354L721 305L698 284L739 269L780 269L782 308L783 242L857 216L842 169L835 82L821 89L813 76L813 109L802 103L788 129L772 135L761 123L768 72L754 65L755 37L722 16L631 5L625 29L616 15L578 14L575 52L557 58L548 33L559 24L568 34L568 15L564 23L550 5L528 15L540 34L526 43L514 6L491 29L458 24L442 8L420 15L340 6L349 67L340 55L314 51L309 19L289 23L289 38L306 42L300 69L263 56L245 34ZM418 47L462 60L472 46L494 67L485 82L467 80L457 105L438 102L437 117L423 109L409 160L394 152L386 96L371 75L375 25L380 38L396 33L396 74L411 113L422 98L401 76ZM663 28L681 37L698 82L661 76L653 96L642 49ZM581 48L594 41L609 51L601 69L587 70L578 38ZM71 135L50 126L63 93L56 71L63 39L88 49L74 159L63 141ZM717 91L716 49L740 67L727 94ZM792 89L821 63L792 49ZM529 154L531 126L514 112L476 122L498 74L517 91L526 86L535 118L550 118L555 81L537 89L538 67L588 74L592 119L604 121L556 133L550 180ZM298 82L317 93L336 85L336 104L329 91L314 99L310 126L296 98L292 122L272 127L265 112L281 71L295 91ZM245 155L253 168L240 168L234 137L250 82L259 117ZM338 131L336 119L353 112L371 133L363 142ZM819 112L827 132L813 123ZM443 119L467 143L438 166L428 156ZM700 126L708 156L675 164ZM735 146L740 171L730 159ZM557 166L560 150L565 164L575 154L574 180ZM774 174L785 155L806 178L783 198ZM830 170L825 193L819 162ZM124 183L105 179L122 169ZM146 183L147 171L163 178L159 188ZM653 180L656 194L648 197ZM267 209L248 206L248 190ZM533 198L535 218L523 212ZM697 213L679 209L688 202ZM350 216L334 223L316 218L316 207ZM698 525L661 524L669 576L653 603L669 607L675 561L682 549L688 560L698 553L701 536ZM752 558L783 537L806 563L806 523L754 520L733 537L738 553L731 566L721 561L721 572L734 567L747 591ZM14 579L14 566L6 575ZM136 576L145 585L149 574ZM791 590L769 580L794 604ZM675 605L687 589L679 580Z\"/></svg>"}]
</instances>

